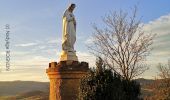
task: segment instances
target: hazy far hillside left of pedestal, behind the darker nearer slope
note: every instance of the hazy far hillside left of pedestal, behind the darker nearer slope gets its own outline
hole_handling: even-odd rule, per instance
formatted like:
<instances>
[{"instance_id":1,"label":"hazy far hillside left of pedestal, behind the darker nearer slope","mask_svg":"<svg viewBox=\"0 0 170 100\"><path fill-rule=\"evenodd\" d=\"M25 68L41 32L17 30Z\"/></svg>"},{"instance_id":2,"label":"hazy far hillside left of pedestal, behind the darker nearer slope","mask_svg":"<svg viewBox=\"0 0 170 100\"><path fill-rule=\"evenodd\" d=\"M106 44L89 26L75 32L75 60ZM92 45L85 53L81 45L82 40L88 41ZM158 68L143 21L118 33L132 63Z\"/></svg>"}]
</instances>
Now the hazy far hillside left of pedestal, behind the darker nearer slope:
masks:
<instances>
[{"instance_id":1,"label":"hazy far hillside left of pedestal, behind the darker nearer slope","mask_svg":"<svg viewBox=\"0 0 170 100\"><path fill-rule=\"evenodd\" d=\"M30 91L47 92L48 82L12 81L0 82L0 96L12 96Z\"/></svg>"}]
</instances>

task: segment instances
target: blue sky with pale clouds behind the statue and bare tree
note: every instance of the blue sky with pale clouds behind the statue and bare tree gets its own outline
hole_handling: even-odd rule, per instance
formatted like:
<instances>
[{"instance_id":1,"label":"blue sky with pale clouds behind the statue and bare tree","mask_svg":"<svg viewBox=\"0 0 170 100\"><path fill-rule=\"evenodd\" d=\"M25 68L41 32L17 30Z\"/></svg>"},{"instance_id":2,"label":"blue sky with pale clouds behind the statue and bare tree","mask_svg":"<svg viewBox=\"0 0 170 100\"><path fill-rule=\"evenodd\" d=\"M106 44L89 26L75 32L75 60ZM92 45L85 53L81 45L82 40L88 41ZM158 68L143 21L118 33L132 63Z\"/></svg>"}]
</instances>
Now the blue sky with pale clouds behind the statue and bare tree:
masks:
<instances>
[{"instance_id":1,"label":"blue sky with pale clouds behind the statue and bare tree","mask_svg":"<svg viewBox=\"0 0 170 100\"><path fill-rule=\"evenodd\" d=\"M141 78L157 76L158 63L170 59L170 1L168 0L0 0L0 81L49 81L48 64L59 61L61 52L62 15L75 3L79 61L95 66L96 58L87 45L92 42L92 25L102 24L102 17L120 9L131 13L138 7L143 30L157 34L153 50L147 57L149 70ZM5 25L10 24L10 71L5 71Z\"/></svg>"}]
</instances>

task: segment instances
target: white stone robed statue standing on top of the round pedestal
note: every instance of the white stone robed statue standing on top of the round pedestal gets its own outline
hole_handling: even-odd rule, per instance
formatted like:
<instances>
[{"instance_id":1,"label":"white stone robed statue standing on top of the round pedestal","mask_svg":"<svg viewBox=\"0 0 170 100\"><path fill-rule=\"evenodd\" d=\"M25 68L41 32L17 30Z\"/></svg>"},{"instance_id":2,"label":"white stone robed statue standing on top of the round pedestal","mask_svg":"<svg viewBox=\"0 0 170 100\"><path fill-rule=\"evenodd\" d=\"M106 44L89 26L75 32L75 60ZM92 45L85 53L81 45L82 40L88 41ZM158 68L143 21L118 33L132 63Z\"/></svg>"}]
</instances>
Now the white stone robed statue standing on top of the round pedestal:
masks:
<instances>
[{"instance_id":1,"label":"white stone robed statue standing on top of the round pedestal","mask_svg":"<svg viewBox=\"0 0 170 100\"><path fill-rule=\"evenodd\" d=\"M61 61L78 61L74 44L76 42L76 20L73 15L75 4L71 4L63 15Z\"/></svg>"}]
</instances>

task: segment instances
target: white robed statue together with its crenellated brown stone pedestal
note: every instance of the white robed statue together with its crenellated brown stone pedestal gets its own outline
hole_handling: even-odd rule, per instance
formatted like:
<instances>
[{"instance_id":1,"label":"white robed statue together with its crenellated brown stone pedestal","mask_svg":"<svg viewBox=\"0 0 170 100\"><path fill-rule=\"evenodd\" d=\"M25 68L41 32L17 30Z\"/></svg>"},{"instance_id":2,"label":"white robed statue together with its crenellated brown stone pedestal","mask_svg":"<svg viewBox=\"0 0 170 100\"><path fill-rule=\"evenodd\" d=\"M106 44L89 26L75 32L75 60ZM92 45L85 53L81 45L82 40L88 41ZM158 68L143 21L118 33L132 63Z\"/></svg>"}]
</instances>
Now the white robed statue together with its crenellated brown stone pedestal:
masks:
<instances>
[{"instance_id":1,"label":"white robed statue together with its crenellated brown stone pedestal","mask_svg":"<svg viewBox=\"0 0 170 100\"><path fill-rule=\"evenodd\" d=\"M87 62L79 62L74 49L76 42L75 4L63 15L62 52L59 62L49 63L46 73L50 79L49 100L76 100L80 80L88 74Z\"/></svg>"}]
</instances>

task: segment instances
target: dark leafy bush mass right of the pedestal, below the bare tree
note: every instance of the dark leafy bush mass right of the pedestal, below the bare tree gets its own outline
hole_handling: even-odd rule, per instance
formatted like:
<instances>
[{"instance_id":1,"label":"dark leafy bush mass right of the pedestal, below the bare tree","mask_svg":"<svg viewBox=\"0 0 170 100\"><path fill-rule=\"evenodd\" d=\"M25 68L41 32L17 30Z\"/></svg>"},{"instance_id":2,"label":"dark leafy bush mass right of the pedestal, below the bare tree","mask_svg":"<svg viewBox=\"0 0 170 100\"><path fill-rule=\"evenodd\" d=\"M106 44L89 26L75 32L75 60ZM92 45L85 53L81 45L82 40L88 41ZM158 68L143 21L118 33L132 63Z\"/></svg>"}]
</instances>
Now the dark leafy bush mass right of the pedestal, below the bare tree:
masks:
<instances>
[{"instance_id":1,"label":"dark leafy bush mass right of the pedestal, below the bare tree","mask_svg":"<svg viewBox=\"0 0 170 100\"><path fill-rule=\"evenodd\" d=\"M140 100L140 85L113 74L99 58L96 69L81 80L79 93L79 100Z\"/></svg>"}]
</instances>

